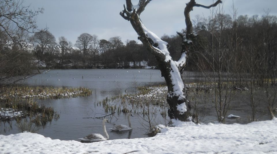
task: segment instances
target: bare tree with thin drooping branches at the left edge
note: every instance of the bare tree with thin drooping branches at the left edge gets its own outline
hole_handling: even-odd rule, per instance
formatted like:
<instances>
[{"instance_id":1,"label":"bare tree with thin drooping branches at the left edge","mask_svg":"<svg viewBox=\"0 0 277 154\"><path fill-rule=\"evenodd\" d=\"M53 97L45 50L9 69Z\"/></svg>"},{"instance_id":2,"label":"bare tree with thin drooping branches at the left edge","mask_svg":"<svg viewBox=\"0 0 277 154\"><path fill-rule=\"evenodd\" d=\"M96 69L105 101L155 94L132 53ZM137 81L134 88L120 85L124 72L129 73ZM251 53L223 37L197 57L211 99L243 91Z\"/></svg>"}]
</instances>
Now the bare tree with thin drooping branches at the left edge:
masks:
<instances>
[{"instance_id":1,"label":"bare tree with thin drooping branches at the left edge","mask_svg":"<svg viewBox=\"0 0 277 154\"><path fill-rule=\"evenodd\" d=\"M42 11L31 10L24 0L0 1L0 87L33 73L26 32L34 32L35 17Z\"/></svg>"}]
</instances>

